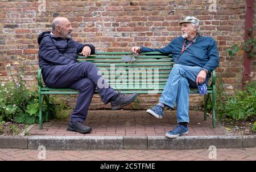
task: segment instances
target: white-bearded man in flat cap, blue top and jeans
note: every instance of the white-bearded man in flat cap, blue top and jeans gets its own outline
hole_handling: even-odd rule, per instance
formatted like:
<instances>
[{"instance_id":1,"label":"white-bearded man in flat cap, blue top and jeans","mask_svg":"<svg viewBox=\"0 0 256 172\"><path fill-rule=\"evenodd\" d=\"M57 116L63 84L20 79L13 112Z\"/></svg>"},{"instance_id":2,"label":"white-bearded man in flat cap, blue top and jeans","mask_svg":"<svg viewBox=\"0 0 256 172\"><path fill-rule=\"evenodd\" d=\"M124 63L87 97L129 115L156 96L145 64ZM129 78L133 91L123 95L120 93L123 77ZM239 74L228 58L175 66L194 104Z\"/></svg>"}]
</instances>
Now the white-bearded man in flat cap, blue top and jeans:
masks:
<instances>
[{"instance_id":1,"label":"white-bearded man in flat cap, blue top and jeans","mask_svg":"<svg viewBox=\"0 0 256 172\"><path fill-rule=\"evenodd\" d=\"M135 53L159 51L163 54L172 54L174 67L171 70L159 103L147 113L162 118L164 106L174 109L177 104L178 125L166 133L167 137L175 138L188 134L189 123L189 87L207 83L210 72L218 67L218 50L216 41L212 37L200 36L200 21L193 16L187 16L180 21L181 36L176 37L166 47L151 49L143 46L134 46Z\"/></svg>"}]
</instances>

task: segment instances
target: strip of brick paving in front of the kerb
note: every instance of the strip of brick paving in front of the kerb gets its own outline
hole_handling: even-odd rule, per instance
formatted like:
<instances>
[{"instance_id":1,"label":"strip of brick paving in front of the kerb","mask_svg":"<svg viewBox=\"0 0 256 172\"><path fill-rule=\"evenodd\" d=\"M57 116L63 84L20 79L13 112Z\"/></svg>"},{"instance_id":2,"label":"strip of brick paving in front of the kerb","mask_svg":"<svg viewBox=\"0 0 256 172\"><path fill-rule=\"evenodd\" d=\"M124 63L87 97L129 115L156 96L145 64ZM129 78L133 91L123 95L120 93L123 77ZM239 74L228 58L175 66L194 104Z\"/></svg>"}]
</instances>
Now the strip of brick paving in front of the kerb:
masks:
<instances>
[{"instance_id":1,"label":"strip of brick paving in front of the kerb","mask_svg":"<svg viewBox=\"0 0 256 172\"><path fill-rule=\"evenodd\" d=\"M46 159L52 160L95 160L95 161L162 161L162 160L203 160L209 161L208 149L194 150L90 150L90 151L46 151ZM31 149L0 149L0 160L41 160L42 153ZM210 154L211 156L212 154ZM256 148L217 149L212 160L256 160Z\"/></svg>"}]
</instances>

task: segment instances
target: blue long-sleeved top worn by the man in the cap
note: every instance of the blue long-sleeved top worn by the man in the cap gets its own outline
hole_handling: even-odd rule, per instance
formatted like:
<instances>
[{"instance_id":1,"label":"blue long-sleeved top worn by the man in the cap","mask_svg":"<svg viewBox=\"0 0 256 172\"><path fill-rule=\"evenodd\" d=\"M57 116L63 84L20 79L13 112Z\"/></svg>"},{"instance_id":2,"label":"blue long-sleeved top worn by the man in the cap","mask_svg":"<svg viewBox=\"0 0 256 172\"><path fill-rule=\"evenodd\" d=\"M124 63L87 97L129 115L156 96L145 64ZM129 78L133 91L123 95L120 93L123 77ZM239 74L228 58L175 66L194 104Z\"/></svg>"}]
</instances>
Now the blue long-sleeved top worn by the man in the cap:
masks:
<instances>
[{"instance_id":1,"label":"blue long-sleeved top worn by the man in the cap","mask_svg":"<svg viewBox=\"0 0 256 172\"><path fill-rule=\"evenodd\" d=\"M163 54L171 54L174 62L184 66L199 66L211 72L218 67L218 50L216 41L212 37L199 36L195 44L190 45L180 55L184 38L179 36L161 49L151 49L142 46L142 52L159 51ZM187 41L185 47L189 44ZM179 57L180 55L180 57ZM179 57L179 59L177 59Z\"/></svg>"}]
</instances>

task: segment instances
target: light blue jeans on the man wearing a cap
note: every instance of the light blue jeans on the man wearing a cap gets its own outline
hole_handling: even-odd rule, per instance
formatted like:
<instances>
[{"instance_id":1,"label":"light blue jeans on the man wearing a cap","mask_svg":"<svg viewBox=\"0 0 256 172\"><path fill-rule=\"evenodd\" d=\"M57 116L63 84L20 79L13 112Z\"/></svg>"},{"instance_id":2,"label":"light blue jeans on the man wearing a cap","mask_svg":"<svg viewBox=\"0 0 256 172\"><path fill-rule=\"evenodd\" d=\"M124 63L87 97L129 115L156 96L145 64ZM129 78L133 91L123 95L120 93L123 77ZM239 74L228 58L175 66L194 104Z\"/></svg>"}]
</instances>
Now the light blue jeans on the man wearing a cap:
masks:
<instances>
[{"instance_id":1,"label":"light blue jeans on the man wearing a cap","mask_svg":"<svg viewBox=\"0 0 256 172\"><path fill-rule=\"evenodd\" d=\"M191 67L179 64L176 64L171 70L159 102L174 108L176 101L178 123L189 123L189 87L197 87L196 76L200 70L199 66Z\"/></svg>"}]
</instances>

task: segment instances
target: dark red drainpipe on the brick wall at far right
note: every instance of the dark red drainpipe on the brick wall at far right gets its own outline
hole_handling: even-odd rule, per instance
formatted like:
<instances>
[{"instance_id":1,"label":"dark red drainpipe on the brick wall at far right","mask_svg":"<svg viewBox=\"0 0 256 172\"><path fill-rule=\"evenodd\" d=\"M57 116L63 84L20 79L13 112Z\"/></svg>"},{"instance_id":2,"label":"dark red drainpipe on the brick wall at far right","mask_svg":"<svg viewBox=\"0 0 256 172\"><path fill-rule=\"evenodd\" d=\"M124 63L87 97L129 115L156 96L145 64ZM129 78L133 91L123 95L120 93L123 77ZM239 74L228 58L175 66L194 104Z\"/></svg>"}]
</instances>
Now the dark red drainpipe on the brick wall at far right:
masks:
<instances>
[{"instance_id":1,"label":"dark red drainpipe on the brick wall at far right","mask_svg":"<svg viewBox=\"0 0 256 172\"><path fill-rule=\"evenodd\" d=\"M248 31L247 28L253 29L253 1L246 0L246 9L245 9L245 36L243 40L245 42L248 40ZM253 31L251 31L251 36L253 36ZM245 83L250 81L251 74L251 58L247 58L248 52L243 51L243 78L242 78L242 88L245 86Z\"/></svg>"}]
</instances>

